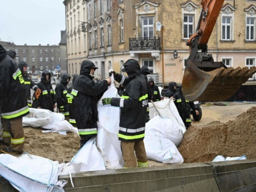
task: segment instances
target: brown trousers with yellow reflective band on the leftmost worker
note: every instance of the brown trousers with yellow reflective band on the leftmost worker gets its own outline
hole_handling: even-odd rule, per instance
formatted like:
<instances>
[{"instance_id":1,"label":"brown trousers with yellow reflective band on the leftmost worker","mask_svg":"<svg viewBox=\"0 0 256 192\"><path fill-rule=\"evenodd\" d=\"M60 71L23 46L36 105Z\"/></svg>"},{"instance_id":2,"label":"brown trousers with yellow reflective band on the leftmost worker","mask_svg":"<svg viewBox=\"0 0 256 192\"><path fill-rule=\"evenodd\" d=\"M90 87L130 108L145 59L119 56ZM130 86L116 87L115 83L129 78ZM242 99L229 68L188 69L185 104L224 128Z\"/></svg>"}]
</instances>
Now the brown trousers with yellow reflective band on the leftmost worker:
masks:
<instances>
[{"instance_id":1,"label":"brown trousers with yellow reflective band on the leftmost worker","mask_svg":"<svg viewBox=\"0 0 256 192\"><path fill-rule=\"evenodd\" d=\"M24 129L22 117L13 120L1 119L3 124L3 141L8 143L13 151L23 152L24 148Z\"/></svg>"}]
</instances>

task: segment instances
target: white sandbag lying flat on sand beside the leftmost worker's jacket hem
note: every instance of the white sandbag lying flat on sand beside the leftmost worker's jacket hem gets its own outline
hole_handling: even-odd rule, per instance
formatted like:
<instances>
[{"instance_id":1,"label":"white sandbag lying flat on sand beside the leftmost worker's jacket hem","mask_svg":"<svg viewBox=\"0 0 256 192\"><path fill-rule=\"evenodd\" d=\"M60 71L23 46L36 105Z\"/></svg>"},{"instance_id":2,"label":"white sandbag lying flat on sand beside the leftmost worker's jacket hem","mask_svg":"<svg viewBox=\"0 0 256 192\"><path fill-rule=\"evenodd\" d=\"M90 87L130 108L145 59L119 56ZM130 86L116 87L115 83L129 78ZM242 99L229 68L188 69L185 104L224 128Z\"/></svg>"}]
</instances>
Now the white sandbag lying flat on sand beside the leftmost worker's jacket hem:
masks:
<instances>
[{"instance_id":1,"label":"white sandbag lying flat on sand beside the leftmost worker's jacket hem","mask_svg":"<svg viewBox=\"0 0 256 192\"><path fill-rule=\"evenodd\" d=\"M53 113L48 109L29 108L29 114L22 118L22 125L52 129L51 124L57 124L63 120L65 116L61 113Z\"/></svg>"}]
</instances>

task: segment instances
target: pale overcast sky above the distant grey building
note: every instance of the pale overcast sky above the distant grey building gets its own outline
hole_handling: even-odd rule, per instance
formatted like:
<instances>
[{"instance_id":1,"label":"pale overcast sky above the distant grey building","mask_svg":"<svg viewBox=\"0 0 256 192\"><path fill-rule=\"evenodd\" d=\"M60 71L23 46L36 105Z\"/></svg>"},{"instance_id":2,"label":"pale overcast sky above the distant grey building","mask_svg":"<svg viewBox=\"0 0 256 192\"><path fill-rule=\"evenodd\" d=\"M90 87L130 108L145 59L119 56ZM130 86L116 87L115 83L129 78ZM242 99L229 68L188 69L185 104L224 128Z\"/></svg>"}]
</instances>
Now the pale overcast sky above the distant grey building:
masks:
<instances>
[{"instance_id":1,"label":"pale overcast sky above the distant grey building","mask_svg":"<svg viewBox=\"0 0 256 192\"><path fill-rule=\"evenodd\" d=\"M0 0L0 39L16 45L58 45L64 0Z\"/></svg>"}]
</instances>

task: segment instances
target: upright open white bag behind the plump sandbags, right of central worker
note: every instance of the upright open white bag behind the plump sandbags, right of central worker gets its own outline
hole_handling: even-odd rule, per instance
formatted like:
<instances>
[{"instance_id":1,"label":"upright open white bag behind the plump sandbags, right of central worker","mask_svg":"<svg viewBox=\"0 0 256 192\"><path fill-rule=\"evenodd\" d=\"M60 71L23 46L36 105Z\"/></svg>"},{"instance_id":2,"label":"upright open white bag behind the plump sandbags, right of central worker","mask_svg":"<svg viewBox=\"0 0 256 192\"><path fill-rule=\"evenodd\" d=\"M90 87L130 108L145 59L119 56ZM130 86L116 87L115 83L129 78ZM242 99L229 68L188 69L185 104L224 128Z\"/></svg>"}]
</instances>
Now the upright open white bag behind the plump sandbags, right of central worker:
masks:
<instances>
[{"instance_id":1,"label":"upright open white bag behind the plump sandbags, right of central worker","mask_svg":"<svg viewBox=\"0 0 256 192\"><path fill-rule=\"evenodd\" d=\"M154 102L154 106L152 103L148 103L150 119L154 118L157 112L161 118L170 118L172 120L173 126L179 127L183 134L186 132L186 127L172 99L159 100Z\"/></svg>"}]
</instances>

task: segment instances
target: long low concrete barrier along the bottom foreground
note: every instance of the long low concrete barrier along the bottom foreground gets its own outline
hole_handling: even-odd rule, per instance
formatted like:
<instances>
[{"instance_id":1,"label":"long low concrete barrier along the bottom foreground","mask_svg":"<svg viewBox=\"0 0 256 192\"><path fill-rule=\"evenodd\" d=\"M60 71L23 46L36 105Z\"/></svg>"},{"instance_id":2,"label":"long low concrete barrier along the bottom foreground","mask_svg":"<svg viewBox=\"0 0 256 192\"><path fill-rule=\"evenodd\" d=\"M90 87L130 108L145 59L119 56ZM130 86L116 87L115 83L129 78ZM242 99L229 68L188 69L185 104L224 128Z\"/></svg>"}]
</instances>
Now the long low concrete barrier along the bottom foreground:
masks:
<instances>
[{"instance_id":1,"label":"long low concrete barrier along the bottom foreground","mask_svg":"<svg viewBox=\"0 0 256 192\"><path fill-rule=\"evenodd\" d=\"M189 163L61 175L72 192L256 191L256 159ZM16 191L0 177L0 191Z\"/></svg>"}]
</instances>

